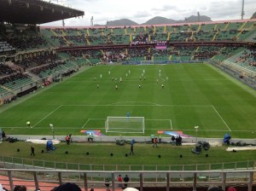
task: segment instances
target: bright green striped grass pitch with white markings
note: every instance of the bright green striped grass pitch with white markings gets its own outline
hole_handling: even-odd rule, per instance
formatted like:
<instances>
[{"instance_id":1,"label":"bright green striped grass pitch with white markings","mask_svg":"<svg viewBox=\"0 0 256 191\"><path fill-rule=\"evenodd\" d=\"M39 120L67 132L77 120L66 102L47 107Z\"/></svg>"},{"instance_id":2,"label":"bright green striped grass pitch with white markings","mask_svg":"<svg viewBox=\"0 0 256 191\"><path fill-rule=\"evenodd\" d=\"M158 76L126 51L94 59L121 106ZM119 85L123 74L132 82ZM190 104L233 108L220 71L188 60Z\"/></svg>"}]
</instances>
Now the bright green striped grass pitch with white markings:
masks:
<instances>
[{"instance_id":1,"label":"bright green striped grass pitch with white markings","mask_svg":"<svg viewBox=\"0 0 256 191\"><path fill-rule=\"evenodd\" d=\"M157 130L195 136L199 126L198 136L255 138L255 97L255 90L208 64L96 66L9 109L0 107L0 125L7 134L51 135L49 124L56 135L106 134L108 116L129 112L145 118L144 136Z\"/></svg>"}]
</instances>

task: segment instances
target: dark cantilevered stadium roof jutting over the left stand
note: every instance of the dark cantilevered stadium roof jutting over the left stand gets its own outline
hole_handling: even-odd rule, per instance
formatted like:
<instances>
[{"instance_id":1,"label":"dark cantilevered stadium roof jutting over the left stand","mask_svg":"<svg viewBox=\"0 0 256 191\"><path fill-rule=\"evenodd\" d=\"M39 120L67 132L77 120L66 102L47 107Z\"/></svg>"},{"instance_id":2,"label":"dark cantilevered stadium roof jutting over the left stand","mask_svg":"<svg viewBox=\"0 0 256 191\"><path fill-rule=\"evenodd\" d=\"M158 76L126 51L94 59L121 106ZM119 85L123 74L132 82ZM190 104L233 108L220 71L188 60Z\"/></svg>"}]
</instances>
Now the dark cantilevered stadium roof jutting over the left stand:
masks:
<instances>
[{"instance_id":1,"label":"dark cantilevered stadium roof jutting over the left stand","mask_svg":"<svg viewBox=\"0 0 256 191\"><path fill-rule=\"evenodd\" d=\"M0 1L0 22L43 24L83 15L84 11L42 0Z\"/></svg>"}]
</instances>

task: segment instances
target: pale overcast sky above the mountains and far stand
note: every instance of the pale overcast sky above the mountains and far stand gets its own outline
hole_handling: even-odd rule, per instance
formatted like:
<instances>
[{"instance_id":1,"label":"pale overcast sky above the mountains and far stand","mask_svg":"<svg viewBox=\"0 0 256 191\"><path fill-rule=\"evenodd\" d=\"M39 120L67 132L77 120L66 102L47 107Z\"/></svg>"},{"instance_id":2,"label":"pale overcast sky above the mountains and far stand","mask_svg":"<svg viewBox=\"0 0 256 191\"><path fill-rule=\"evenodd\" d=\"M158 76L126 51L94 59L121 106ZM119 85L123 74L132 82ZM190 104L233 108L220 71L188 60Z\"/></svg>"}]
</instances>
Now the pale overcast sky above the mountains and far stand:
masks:
<instances>
[{"instance_id":1,"label":"pale overcast sky above the mountains and far stand","mask_svg":"<svg viewBox=\"0 0 256 191\"><path fill-rule=\"evenodd\" d=\"M47 1L47 0L46 0ZM55 2L57 0L51 0ZM61 0L59 0L61 1ZM155 16L184 20L190 15L207 15L212 20L241 19L242 0L62 0L69 7L84 11L83 18L65 20L66 26L105 25L108 20L129 19L142 24ZM244 0L244 19L256 12L256 0ZM62 26L61 21L44 26Z\"/></svg>"}]
</instances>

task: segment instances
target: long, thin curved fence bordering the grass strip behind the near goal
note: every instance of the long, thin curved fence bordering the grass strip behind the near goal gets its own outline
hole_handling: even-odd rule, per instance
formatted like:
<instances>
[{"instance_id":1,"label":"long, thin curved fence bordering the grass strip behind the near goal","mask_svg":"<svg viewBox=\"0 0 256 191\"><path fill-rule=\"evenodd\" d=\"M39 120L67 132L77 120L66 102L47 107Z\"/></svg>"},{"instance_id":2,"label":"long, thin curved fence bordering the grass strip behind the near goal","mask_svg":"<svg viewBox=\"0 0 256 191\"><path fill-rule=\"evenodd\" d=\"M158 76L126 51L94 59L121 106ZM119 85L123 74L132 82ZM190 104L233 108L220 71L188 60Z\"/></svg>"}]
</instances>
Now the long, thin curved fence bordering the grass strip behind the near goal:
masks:
<instances>
[{"instance_id":1,"label":"long, thin curved fence bordering the grass strip behind the near goal","mask_svg":"<svg viewBox=\"0 0 256 191\"><path fill-rule=\"evenodd\" d=\"M54 169L67 171L215 171L215 170L252 170L254 160L216 164L195 165L97 165L63 163L56 161L23 159L0 156L0 168L6 169Z\"/></svg>"}]
</instances>

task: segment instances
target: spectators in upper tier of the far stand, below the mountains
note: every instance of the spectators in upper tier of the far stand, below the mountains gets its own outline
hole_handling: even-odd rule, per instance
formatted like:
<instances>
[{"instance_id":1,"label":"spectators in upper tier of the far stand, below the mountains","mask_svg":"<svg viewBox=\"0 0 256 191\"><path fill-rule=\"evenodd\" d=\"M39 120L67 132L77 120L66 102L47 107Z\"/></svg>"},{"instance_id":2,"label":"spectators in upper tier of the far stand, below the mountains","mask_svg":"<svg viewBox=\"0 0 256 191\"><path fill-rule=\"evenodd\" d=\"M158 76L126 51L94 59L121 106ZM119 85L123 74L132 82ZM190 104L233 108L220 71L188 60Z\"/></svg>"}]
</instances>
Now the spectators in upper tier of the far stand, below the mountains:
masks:
<instances>
[{"instance_id":1,"label":"spectators in upper tier of the far stand, below the mountains","mask_svg":"<svg viewBox=\"0 0 256 191\"><path fill-rule=\"evenodd\" d=\"M212 24L209 24L209 26ZM137 26L137 27L99 27L99 28L55 28L55 35L49 38L56 40L61 46L150 43L151 41L236 41L246 37L248 29L225 28L229 23L216 24L218 27L207 27L207 24L183 26ZM165 28L165 29L164 29ZM50 30L50 29L45 29ZM131 36L130 36L131 35Z\"/></svg>"}]
</instances>

